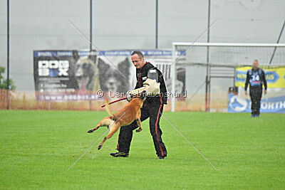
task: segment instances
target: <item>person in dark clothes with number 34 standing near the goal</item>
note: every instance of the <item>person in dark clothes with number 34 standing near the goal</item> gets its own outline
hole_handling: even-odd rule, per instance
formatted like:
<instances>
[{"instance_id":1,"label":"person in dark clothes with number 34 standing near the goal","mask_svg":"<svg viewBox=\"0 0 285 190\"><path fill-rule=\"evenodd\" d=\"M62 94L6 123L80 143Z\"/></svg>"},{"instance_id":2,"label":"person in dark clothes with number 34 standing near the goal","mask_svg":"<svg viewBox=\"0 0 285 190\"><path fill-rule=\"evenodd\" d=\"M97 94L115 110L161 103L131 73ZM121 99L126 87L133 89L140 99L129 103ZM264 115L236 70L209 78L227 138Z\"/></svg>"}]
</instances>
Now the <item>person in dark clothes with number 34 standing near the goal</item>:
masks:
<instances>
[{"instance_id":1,"label":"person in dark clothes with number 34 standing near the goal","mask_svg":"<svg viewBox=\"0 0 285 190\"><path fill-rule=\"evenodd\" d=\"M259 117L260 101L262 97L262 85L264 85L264 95L267 93L267 83L264 70L258 67L258 60L254 60L252 69L247 71L247 80L245 81L244 91L247 95L247 86L249 85L249 95L252 100L252 117Z\"/></svg>"}]
</instances>

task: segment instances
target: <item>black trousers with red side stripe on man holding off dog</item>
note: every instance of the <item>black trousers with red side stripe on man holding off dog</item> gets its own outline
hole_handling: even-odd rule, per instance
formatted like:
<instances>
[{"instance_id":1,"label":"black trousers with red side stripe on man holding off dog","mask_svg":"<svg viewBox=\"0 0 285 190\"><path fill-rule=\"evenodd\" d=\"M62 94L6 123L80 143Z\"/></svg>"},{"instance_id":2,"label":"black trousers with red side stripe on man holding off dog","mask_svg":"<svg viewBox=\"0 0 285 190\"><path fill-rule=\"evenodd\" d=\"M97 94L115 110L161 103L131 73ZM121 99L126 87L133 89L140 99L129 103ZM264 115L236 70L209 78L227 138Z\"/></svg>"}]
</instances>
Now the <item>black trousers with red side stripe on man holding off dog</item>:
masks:
<instances>
[{"instance_id":1,"label":"black trousers with red side stripe on man holding off dog","mask_svg":"<svg viewBox=\"0 0 285 190\"><path fill-rule=\"evenodd\" d=\"M155 144L155 151L157 156L166 157L167 151L165 144L162 142L160 130L160 113L162 114L163 104L156 102L145 102L140 109L142 115L140 117L141 121L146 120L150 117L150 134L152 135L153 143ZM133 122L128 126L120 127L119 139L117 149L119 152L130 152L130 142L133 137L133 130L138 128L137 122ZM142 128L145 130L145 128Z\"/></svg>"}]
</instances>

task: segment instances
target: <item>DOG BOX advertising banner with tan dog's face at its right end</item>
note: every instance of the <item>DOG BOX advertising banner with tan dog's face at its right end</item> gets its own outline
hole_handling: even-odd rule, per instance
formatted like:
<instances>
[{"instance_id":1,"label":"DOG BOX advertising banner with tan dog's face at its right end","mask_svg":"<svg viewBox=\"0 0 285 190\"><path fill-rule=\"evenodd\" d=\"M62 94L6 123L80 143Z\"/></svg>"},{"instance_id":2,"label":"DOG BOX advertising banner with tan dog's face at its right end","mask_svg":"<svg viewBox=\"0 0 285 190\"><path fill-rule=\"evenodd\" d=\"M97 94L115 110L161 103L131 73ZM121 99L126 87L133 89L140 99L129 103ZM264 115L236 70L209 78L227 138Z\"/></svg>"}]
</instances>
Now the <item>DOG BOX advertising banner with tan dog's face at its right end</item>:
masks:
<instances>
[{"instance_id":1,"label":"DOG BOX advertising banner with tan dog's face at its right end","mask_svg":"<svg viewBox=\"0 0 285 190\"><path fill-rule=\"evenodd\" d=\"M96 51L33 51L36 98L40 101L96 100L100 88Z\"/></svg>"}]
</instances>

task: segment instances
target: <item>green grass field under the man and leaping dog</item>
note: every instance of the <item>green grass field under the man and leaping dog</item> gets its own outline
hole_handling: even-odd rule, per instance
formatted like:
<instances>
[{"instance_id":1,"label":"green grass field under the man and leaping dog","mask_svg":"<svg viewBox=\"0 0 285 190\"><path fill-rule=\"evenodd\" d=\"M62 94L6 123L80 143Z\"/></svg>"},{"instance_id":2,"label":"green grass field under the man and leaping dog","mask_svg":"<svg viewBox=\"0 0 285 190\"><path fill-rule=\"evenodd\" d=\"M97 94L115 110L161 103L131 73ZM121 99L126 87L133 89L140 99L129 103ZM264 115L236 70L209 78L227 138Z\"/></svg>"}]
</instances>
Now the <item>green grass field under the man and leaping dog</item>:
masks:
<instances>
[{"instance_id":1,"label":"green grass field under the man and leaping dog","mask_svg":"<svg viewBox=\"0 0 285 190\"><path fill-rule=\"evenodd\" d=\"M0 111L1 189L285 189L285 115L165 112L215 170L165 120L167 159L156 159L148 120L128 158L113 158L118 133L88 134L105 112Z\"/></svg>"}]
</instances>

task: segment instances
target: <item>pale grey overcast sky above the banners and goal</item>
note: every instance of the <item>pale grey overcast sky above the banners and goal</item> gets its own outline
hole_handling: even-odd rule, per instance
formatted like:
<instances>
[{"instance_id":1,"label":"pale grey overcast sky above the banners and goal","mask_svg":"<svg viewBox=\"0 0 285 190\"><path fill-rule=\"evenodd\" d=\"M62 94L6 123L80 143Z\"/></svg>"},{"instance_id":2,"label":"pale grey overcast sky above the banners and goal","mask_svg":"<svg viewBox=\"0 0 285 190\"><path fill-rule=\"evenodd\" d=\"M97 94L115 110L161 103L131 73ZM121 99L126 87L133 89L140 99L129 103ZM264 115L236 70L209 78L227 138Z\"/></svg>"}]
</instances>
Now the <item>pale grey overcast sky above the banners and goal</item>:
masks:
<instances>
[{"instance_id":1,"label":"pale grey overcast sky above the banners and goal","mask_svg":"<svg viewBox=\"0 0 285 190\"><path fill-rule=\"evenodd\" d=\"M33 50L84 49L89 0L11 0L11 78L33 90ZM212 0L212 42L275 43L284 0ZM207 28L207 0L159 0L159 48L192 42ZM207 33L199 38L205 42ZM155 0L93 0L93 43L101 50L155 48ZM281 43L285 43L284 35ZM6 67L6 1L0 0L0 65Z\"/></svg>"}]
</instances>

